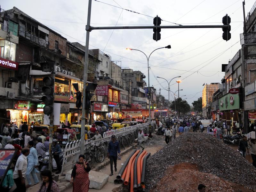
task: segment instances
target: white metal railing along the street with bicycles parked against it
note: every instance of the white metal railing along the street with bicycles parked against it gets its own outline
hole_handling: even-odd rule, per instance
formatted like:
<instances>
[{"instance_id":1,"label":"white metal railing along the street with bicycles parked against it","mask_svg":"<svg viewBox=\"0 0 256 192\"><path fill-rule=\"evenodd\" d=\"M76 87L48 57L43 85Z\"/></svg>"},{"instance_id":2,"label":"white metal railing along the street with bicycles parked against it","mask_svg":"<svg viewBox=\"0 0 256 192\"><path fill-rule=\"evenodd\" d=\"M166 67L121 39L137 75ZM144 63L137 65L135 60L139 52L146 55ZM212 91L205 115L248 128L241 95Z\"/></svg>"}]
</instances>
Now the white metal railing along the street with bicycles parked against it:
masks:
<instances>
[{"instance_id":1,"label":"white metal railing along the street with bicycles parked against it","mask_svg":"<svg viewBox=\"0 0 256 192\"><path fill-rule=\"evenodd\" d=\"M151 122L151 126L154 126L155 124L156 124L156 121ZM148 129L149 127L148 125L149 123L143 123L143 124L137 124L129 127L123 127L121 129L115 129L115 130L104 132L102 139L92 140L92 141L87 140L84 143L84 148L85 149L90 148L92 144L99 145L100 143L104 143L105 141L110 141L112 135L116 135L118 137L119 135L128 134L137 129L145 129L145 128ZM80 140L67 143L64 150L64 155L63 155L61 174L63 172L66 172L72 169L72 167L78 161L79 155L80 155Z\"/></svg>"}]
</instances>

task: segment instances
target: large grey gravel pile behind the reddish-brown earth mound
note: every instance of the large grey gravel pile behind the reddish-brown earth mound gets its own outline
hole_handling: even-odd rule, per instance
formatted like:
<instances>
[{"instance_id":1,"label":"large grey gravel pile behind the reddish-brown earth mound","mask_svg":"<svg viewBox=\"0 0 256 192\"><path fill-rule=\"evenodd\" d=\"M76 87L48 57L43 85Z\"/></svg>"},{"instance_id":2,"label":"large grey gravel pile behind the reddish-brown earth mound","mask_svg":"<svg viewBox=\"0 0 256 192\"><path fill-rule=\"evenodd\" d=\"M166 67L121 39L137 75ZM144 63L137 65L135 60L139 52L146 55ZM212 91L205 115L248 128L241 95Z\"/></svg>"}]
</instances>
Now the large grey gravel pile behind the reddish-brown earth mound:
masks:
<instances>
[{"instance_id":1,"label":"large grey gravel pile behind the reddish-brown earth mound","mask_svg":"<svg viewBox=\"0 0 256 192\"><path fill-rule=\"evenodd\" d=\"M146 189L155 188L170 165L196 164L211 173L249 189L256 189L256 169L234 149L206 133L183 133L147 160ZM218 181L216 181L218 182Z\"/></svg>"}]
</instances>

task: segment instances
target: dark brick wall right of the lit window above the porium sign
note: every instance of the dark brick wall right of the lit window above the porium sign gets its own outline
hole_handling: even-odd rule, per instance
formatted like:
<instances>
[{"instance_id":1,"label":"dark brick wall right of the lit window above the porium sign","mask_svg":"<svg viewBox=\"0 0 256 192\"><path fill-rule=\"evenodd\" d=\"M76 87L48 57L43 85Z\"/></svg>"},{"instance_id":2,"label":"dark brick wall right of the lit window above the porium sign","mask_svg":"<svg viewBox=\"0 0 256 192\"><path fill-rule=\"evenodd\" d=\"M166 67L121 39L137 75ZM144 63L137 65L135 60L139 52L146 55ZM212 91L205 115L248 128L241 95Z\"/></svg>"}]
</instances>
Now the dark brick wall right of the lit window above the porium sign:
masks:
<instances>
[{"instance_id":1,"label":"dark brick wall right of the lit window above the porium sign","mask_svg":"<svg viewBox=\"0 0 256 192\"><path fill-rule=\"evenodd\" d=\"M32 47L19 43L16 44L16 58L15 61L31 61L33 62Z\"/></svg>"}]
</instances>

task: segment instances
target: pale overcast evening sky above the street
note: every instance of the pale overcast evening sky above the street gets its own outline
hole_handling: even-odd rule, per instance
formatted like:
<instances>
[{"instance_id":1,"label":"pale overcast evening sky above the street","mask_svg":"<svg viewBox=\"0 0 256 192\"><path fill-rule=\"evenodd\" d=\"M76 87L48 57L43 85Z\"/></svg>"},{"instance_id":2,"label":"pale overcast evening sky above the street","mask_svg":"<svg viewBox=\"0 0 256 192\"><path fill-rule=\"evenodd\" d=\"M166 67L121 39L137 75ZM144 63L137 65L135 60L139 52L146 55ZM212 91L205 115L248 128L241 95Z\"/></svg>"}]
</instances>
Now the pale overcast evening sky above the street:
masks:
<instances>
[{"instance_id":1,"label":"pale overcast evening sky above the street","mask_svg":"<svg viewBox=\"0 0 256 192\"><path fill-rule=\"evenodd\" d=\"M72 3L71 3L72 2ZM181 80L180 96L191 104L202 96L203 84L220 83L225 75L221 64L228 64L241 48L243 33L243 0L92 0L91 26L142 26L153 25L158 15L161 25L223 25L222 17L231 18L231 39L222 39L221 28L162 29L161 39L153 40L152 29L92 30L89 49L99 48L109 54L121 68L140 70L148 84L147 58L138 51L127 51L130 47L149 55L153 50L171 45L171 49L160 49L149 59L149 83L168 99L170 90L176 92ZM245 0L245 16L255 0ZM87 0L55 1L2 1L1 8L15 6L29 16L68 39L85 45L87 23ZM127 11L130 10L130 11ZM133 11L133 12L131 12ZM176 23L176 24L173 24ZM161 89L161 90L160 90ZM170 100L173 93L170 92ZM176 93L177 94L177 93Z\"/></svg>"}]
</instances>

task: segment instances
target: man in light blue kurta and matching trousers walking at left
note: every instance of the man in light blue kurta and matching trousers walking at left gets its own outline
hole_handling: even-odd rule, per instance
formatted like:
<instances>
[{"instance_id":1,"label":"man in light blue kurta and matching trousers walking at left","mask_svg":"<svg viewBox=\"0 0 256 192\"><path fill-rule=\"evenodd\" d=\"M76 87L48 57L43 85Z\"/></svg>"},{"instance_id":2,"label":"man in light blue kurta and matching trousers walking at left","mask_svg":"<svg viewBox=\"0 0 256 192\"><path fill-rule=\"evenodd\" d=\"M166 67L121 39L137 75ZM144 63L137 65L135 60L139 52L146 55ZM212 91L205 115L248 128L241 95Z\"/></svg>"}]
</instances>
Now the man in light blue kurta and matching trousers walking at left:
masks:
<instances>
[{"instance_id":1,"label":"man in light blue kurta and matching trousers walking at left","mask_svg":"<svg viewBox=\"0 0 256 192\"><path fill-rule=\"evenodd\" d=\"M39 180L36 176L36 173L39 173L39 171L36 169L39 166L38 156L37 156L37 153L36 153L36 149L33 146L34 146L34 142L29 141L28 142L28 148L30 149L30 153L27 156L28 166L27 166L27 171L26 171L26 179L28 181L28 185L26 185L26 188L31 187L30 173L31 173L32 178L34 180L34 185L39 183Z\"/></svg>"}]
</instances>

